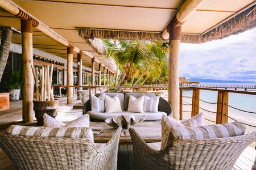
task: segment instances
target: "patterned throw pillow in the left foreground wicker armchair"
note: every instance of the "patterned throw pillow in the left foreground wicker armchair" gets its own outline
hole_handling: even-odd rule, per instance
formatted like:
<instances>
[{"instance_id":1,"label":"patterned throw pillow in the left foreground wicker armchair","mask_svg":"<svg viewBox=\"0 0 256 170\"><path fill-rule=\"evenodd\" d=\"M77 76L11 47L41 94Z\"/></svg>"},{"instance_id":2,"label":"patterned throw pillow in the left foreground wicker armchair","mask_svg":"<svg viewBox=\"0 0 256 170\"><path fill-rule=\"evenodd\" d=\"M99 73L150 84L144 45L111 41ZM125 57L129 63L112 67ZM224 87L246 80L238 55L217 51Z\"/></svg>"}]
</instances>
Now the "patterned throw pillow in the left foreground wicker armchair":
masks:
<instances>
[{"instance_id":1,"label":"patterned throw pillow in the left foreground wicker armchair","mask_svg":"<svg viewBox=\"0 0 256 170\"><path fill-rule=\"evenodd\" d=\"M56 120L55 118L49 116L48 114L44 113L44 127L47 128L72 128L72 127L85 127L89 128L90 124L90 116L89 114L84 114L81 117L69 122L68 124L64 124Z\"/></svg>"}]
</instances>

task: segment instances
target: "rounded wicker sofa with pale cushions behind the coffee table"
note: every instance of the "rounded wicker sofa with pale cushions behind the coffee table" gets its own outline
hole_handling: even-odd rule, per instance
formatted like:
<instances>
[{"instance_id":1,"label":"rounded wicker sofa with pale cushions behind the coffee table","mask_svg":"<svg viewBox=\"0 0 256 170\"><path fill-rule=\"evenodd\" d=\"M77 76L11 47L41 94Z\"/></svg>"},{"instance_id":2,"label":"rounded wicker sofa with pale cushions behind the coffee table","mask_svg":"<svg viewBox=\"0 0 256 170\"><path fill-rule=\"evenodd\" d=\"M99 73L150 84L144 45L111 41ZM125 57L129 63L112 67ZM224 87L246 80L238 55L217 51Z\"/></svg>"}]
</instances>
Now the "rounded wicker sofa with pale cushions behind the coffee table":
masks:
<instances>
[{"instance_id":1,"label":"rounded wicker sofa with pale cushions behind the coffee table","mask_svg":"<svg viewBox=\"0 0 256 170\"><path fill-rule=\"evenodd\" d=\"M95 96L98 97L102 93L98 93ZM145 112L145 113L132 113L127 112L128 104L129 104L129 97L130 95L134 97L140 97L142 95L148 96L148 97L154 97L155 94L148 92L148 93L134 93L134 92L106 92L105 95L108 95L110 97L113 97L115 95L119 96L119 100L121 103L122 112L118 113L104 113L104 112L92 112L91 111L91 105L90 100L86 101L84 104L84 107L82 109L83 114L89 114L90 115L90 121L104 121L107 118L113 118L118 117L120 115L127 115L127 114L133 114L134 116L141 116L145 115L146 121L156 121L160 120L162 117L162 114L172 116L172 108L171 105L168 103L168 101L164 100L162 97L159 98L159 105L158 105L158 112Z\"/></svg>"}]
</instances>

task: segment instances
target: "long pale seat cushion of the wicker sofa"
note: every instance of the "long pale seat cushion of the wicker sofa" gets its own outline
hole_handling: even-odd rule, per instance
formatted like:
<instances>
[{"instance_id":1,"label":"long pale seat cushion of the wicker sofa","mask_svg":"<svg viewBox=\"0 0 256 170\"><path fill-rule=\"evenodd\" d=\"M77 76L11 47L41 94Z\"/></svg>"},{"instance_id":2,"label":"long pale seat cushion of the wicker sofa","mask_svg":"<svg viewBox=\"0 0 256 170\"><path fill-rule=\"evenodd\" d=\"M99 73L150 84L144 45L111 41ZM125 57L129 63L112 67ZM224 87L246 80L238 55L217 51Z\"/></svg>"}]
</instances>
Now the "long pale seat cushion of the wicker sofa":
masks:
<instances>
[{"instance_id":1,"label":"long pale seat cushion of the wicker sofa","mask_svg":"<svg viewBox=\"0 0 256 170\"><path fill-rule=\"evenodd\" d=\"M89 111L87 114L90 115L90 118L93 118L95 120L101 120L104 121L107 118L114 118L121 115L129 115L132 114L134 116L147 116L146 121L153 121L153 120L160 120L162 115L166 115L164 112L144 112L144 113L133 113L133 112L117 112L117 113L104 113L104 112L92 112Z\"/></svg>"}]
</instances>

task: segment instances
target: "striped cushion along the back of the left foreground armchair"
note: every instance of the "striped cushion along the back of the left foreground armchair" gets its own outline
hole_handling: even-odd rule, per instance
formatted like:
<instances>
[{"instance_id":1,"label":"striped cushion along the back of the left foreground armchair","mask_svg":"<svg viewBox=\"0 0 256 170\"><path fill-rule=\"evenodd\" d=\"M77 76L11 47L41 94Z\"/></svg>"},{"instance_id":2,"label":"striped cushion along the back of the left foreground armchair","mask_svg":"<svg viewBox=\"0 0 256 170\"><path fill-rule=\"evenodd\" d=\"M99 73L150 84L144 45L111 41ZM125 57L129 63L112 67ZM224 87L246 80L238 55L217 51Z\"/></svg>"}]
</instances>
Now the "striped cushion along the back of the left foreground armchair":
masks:
<instances>
[{"instance_id":1,"label":"striped cushion along the back of the left foreground armchair","mask_svg":"<svg viewBox=\"0 0 256 170\"><path fill-rule=\"evenodd\" d=\"M7 134L24 135L34 137L56 137L56 138L89 138L93 140L93 131L90 128L76 127L76 128L45 128L12 125L6 130Z\"/></svg>"}]
</instances>

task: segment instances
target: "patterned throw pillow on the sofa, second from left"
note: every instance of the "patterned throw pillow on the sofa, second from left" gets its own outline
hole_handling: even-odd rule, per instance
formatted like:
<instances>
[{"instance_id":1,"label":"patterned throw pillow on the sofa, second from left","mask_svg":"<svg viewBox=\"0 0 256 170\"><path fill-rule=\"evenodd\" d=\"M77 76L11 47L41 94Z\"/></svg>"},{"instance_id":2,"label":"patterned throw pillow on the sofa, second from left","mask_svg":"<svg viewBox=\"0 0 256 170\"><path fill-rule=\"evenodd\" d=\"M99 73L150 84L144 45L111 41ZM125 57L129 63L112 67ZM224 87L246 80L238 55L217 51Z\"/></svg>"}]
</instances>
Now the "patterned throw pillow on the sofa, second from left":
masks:
<instances>
[{"instance_id":1,"label":"patterned throw pillow on the sofa, second from left","mask_svg":"<svg viewBox=\"0 0 256 170\"><path fill-rule=\"evenodd\" d=\"M122 112L118 95L114 96L113 98L106 96L105 108L106 108L106 113Z\"/></svg>"}]
</instances>

